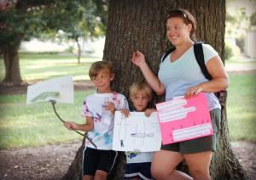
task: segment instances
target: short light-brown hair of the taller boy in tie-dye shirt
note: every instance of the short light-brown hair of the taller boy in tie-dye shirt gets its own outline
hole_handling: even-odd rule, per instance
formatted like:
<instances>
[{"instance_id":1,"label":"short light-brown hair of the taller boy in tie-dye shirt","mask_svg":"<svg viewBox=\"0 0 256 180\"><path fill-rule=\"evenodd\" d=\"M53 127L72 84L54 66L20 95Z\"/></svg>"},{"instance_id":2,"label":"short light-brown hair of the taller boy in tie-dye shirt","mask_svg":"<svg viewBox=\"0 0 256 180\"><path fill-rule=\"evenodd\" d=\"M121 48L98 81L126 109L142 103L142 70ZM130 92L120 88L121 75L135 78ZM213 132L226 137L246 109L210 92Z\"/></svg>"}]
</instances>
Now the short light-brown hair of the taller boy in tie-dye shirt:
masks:
<instances>
[{"instance_id":1,"label":"short light-brown hair of the taller boy in tie-dye shirt","mask_svg":"<svg viewBox=\"0 0 256 180\"><path fill-rule=\"evenodd\" d=\"M114 75L113 65L110 61L96 61L90 65L89 76L90 80L97 76L100 70L108 70L109 75Z\"/></svg>"}]
</instances>

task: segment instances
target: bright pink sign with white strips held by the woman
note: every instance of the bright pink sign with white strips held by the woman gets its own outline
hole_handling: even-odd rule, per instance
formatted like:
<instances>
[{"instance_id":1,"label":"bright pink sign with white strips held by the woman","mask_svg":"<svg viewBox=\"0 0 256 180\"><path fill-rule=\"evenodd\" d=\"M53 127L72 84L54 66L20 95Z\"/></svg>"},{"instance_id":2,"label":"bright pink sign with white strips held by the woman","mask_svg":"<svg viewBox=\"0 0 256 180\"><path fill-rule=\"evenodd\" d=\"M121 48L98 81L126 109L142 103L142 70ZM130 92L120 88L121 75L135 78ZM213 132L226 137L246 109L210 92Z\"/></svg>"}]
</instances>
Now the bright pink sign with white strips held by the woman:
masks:
<instances>
[{"instance_id":1,"label":"bright pink sign with white strips held by the woman","mask_svg":"<svg viewBox=\"0 0 256 180\"><path fill-rule=\"evenodd\" d=\"M177 143L212 135L205 93L156 104L162 143Z\"/></svg>"}]
</instances>

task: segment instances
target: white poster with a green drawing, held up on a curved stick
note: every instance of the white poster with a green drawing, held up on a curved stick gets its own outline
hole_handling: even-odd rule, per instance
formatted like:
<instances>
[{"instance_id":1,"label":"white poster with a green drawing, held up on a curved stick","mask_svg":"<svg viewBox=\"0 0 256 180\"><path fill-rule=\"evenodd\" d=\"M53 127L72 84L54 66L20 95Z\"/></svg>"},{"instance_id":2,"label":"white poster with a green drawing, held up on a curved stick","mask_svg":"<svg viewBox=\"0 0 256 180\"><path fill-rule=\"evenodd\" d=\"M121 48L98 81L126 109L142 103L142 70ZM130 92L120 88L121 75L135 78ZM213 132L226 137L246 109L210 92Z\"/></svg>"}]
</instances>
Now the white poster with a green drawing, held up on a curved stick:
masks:
<instances>
[{"instance_id":1,"label":"white poster with a green drawing, held up on a curved stick","mask_svg":"<svg viewBox=\"0 0 256 180\"><path fill-rule=\"evenodd\" d=\"M27 87L26 104L49 100L73 104L72 76L61 76Z\"/></svg>"}]
</instances>

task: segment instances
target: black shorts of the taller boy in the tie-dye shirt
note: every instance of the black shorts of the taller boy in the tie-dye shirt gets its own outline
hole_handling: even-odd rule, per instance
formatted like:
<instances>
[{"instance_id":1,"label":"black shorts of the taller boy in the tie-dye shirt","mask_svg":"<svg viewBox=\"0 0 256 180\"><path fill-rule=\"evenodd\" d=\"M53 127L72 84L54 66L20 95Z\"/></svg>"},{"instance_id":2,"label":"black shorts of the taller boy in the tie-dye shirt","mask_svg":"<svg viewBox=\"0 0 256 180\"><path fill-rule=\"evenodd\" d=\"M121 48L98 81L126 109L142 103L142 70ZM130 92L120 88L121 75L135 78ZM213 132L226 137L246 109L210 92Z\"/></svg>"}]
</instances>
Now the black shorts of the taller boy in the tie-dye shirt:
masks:
<instances>
[{"instance_id":1,"label":"black shorts of the taller boy in the tie-dye shirt","mask_svg":"<svg viewBox=\"0 0 256 180\"><path fill-rule=\"evenodd\" d=\"M94 176L96 170L110 172L117 160L117 157L117 151L84 148L82 162L83 176Z\"/></svg>"}]
</instances>

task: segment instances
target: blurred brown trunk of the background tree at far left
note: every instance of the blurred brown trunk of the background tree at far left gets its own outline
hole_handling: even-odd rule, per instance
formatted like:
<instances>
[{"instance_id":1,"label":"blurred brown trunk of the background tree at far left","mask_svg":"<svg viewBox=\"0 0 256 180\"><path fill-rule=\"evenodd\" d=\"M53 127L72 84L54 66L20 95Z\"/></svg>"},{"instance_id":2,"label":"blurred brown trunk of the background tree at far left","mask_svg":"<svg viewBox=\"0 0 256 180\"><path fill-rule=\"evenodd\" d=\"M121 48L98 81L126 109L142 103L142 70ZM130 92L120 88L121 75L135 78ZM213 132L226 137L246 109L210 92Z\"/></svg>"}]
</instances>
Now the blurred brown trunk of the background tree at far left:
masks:
<instances>
[{"instance_id":1,"label":"blurred brown trunk of the background tree at far left","mask_svg":"<svg viewBox=\"0 0 256 180\"><path fill-rule=\"evenodd\" d=\"M8 47L3 49L3 60L5 66L4 83L20 85L22 82L20 76L20 64L18 47Z\"/></svg>"}]
</instances>

